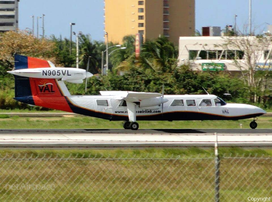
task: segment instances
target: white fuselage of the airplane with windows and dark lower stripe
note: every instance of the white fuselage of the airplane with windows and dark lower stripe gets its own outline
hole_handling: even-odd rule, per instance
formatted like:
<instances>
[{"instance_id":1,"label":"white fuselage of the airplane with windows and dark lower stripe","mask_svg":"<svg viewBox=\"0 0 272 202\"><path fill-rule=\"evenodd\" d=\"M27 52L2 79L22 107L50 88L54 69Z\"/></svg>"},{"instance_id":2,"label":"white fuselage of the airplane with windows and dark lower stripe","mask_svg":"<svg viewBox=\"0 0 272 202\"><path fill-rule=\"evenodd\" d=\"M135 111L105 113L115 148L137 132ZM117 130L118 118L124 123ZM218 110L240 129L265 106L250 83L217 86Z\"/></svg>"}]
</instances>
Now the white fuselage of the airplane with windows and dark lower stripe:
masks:
<instances>
[{"instance_id":1,"label":"white fuselage of the airplane with windows and dark lower stripe","mask_svg":"<svg viewBox=\"0 0 272 202\"><path fill-rule=\"evenodd\" d=\"M73 106L101 113L100 118L108 115L112 120L123 120L128 116L127 107L120 106L121 101L115 96L68 96L67 98ZM165 95L164 98L168 101L153 109L137 105L137 120L228 120L251 118L266 113L259 107L247 104L228 103L222 106L216 103L218 100L215 95ZM203 106L203 99L210 101L210 105ZM173 104L175 100L178 100L177 104Z\"/></svg>"}]
</instances>

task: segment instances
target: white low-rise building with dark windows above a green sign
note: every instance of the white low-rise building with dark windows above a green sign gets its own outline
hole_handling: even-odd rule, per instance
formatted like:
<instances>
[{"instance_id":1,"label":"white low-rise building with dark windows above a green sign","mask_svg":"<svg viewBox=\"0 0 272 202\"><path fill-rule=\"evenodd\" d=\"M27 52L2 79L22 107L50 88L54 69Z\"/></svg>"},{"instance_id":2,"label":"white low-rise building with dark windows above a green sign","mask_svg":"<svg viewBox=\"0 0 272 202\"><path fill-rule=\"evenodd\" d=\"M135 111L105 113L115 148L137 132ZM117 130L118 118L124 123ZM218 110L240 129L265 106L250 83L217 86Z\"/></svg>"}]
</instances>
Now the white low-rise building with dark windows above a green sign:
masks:
<instances>
[{"instance_id":1,"label":"white low-rise building with dark windows above a green sign","mask_svg":"<svg viewBox=\"0 0 272 202\"><path fill-rule=\"evenodd\" d=\"M233 59L237 58L237 61L241 62L243 66L243 63L245 63L245 50L237 50L237 47L224 49L223 44L226 43L226 38L230 37L180 37L178 64L190 62L193 70L240 71L240 69L235 67ZM254 41L256 37L252 36L248 37L248 39ZM264 68L272 70L270 65L272 63L272 60L270 60L272 59L271 49L272 45L270 44L267 46L267 50L256 50L256 55L259 56L256 66L267 62L263 65ZM246 69L246 65L244 65L244 68Z\"/></svg>"}]
</instances>

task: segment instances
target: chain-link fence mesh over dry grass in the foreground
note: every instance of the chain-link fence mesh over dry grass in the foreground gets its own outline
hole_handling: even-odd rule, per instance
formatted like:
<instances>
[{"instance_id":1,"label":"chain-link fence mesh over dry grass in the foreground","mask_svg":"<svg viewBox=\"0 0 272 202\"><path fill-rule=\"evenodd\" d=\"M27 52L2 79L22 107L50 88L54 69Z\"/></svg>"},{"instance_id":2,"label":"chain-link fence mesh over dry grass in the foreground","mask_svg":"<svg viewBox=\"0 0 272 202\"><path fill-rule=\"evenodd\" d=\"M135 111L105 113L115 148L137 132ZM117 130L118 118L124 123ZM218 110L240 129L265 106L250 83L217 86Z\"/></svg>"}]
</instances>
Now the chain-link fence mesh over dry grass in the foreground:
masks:
<instances>
[{"instance_id":1,"label":"chain-link fence mesh over dry grass in the foreground","mask_svg":"<svg viewBox=\"0 0 272 202\"><path fill-rule=\"evenodd\" d=\"M272 197L272 158L222 156L219 193L220 201ZM0 201L215 201L215 158L7 154Z\"/></svg>"}]
</instances>

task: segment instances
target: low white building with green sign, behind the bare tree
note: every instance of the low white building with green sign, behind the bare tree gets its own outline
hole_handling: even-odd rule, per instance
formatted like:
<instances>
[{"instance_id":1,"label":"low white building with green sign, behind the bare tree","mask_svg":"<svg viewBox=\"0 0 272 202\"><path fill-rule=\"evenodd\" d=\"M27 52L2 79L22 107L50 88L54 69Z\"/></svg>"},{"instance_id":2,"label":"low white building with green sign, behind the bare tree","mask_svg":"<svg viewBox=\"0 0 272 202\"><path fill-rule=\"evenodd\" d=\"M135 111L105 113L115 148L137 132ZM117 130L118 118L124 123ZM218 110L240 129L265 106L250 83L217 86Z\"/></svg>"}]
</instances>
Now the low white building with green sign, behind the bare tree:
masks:
<instances>
[{"instance_id":1,"label":"low white building with green sign, behind the bare tree","mask_svg":"<svg viewBox=\"0 0 272 202\"><path fill-rule=\"evenodd\" d=\"M236 46L224 44L227 40L235 41ZM247 37L180 37L178 65L190 64L192 70L206 71L241 71L248 70L246 63L246 47L248 44L257 44L255 36ZM241 42L239 42L241 41ZM241 43L241 44L239 44ZM241 47L238 49L238 47ZM272 70L272 43L266 46L254 45L252 49L255 70ZM252 59L252 60L253 60ZM238 63L239 65L235 64ZM240 67L240 68L238 68Z\"/></svg>"}]
</instances>

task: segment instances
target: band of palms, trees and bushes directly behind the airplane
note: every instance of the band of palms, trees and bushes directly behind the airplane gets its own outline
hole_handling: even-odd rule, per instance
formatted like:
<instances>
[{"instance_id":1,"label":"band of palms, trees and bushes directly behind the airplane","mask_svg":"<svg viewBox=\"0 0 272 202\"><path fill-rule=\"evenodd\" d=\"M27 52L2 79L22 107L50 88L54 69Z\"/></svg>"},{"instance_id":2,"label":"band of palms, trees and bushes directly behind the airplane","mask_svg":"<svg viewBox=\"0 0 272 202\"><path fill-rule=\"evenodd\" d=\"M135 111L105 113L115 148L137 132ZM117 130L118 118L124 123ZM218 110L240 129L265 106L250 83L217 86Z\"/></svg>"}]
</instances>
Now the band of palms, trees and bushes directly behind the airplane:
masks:
<instances>
[{"instance_id":1,"label":"band of palms, trees and bushes directly behind the airplane","mask_svg":"<svg viewBox=\"0 0 272 202\"><path fill-rule=\"evenodd\" d=\"M0 109L35 109L48 110L41 107L30 107L18 103L14 99L14 78L6 73L13 68L14 54L24 54L51 60L56 66L75 67L76 48L66 38L51 36L37 39L24 31L18 33L5 32L0 36ZM165 86L165 94L205 94L202 87L209 93L222 97L228 102L249 103L270 109L272 93L270 73L260 71L256 80L265 76L262 85L248 86L246 79L238 79L241 75L231 75L225 71L192 71L189 65L177 65L178 49L168 41L167 37L159 37L153 41L146 41L141 46L141 54L136 58L134 52L134 36L125 36L123 47L126 49L114 51L109 58L108 76L99 76L101 73L101 52L105 50L105 43L92 41L90 35L81 35L79 38L79 67L86 69L88 60L89 71L99 73L90 78L85 92L85 83L67 83L72 95L99 94L100 90L132 90L143 92L161 92ZM116 44L109 43L109 46ZM33 48L35 47L35 48ZM114 50L117 47L112 47ZM105 64L105 61L104 61ZM119 73L124 73L122 76ZM241 72L243 75L246 72ZM255 77L255 76L254 76ZM252 79L252 78L251 78ZM261 88L261 90L260 90ZM250 92L250 93L249 93ZM224 97L230 93L231 97ZM252 93L254 98L252 101Z\"/></svg>"}]
</instances>

